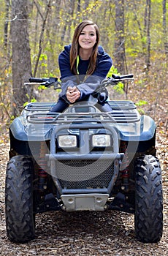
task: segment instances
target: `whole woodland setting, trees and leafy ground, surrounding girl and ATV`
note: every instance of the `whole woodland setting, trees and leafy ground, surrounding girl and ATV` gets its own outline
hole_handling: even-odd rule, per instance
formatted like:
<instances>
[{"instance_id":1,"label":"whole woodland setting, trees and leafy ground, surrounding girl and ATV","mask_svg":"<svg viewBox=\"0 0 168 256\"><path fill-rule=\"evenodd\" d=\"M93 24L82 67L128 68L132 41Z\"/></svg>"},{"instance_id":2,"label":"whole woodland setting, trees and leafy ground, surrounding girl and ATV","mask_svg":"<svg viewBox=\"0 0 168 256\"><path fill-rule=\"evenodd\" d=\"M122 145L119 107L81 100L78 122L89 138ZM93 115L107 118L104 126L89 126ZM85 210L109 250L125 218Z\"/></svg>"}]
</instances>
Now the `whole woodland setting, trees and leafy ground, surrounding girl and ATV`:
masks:
<instances>
[{"instance_id":1,"label":"whole woodland setting, trees and leafy ground, surrounding girl and ATV","mask_svg":"<svg viewBox=\"0 0 168 256\"><path fill-rule=\"evenodd\" d=\"M0 0L0 255L167 255L168 251L168 3L167 0ZM4 216L8 127L29 101L56 101L53 89L24 86L31 76L59 77L58 54L83 19L98 24L115 73L133 73L124 94L157 125L164 191L164 234L157 244L134 236L126 213L59 212L36 217L37 238L7 239ZM113 97L112 89L108 89Z\"/></svg>"}]
</instances>

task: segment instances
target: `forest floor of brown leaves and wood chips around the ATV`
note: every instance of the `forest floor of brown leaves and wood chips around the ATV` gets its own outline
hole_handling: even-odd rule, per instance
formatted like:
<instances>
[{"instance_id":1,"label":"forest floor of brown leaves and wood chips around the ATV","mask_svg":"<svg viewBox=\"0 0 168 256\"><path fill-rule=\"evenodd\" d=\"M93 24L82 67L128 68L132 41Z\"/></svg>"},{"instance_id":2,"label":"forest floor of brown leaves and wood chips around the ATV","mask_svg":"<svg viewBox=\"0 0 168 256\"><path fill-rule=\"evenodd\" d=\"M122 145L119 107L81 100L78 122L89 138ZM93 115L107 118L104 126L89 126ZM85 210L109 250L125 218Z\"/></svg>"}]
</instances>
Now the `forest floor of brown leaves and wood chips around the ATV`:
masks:
<instances>
[{"instance_id":1,"label":"forest floor of brown leaves and wood chips around the ATV","mask_svg":"<svg viewBox=\"0 0 168 256\"><path fill-rule=\"evenodd\" d=\"M5 227L4 184L8 160L9 136L5 120L0 124L0 255L167 255L168 254L168 91L134 92L132 100L141 94L148 101L143 111L154 118L157 125L156 148L161 162L164 191L164 233L156 244L142 244L134 235L134 215L118 211L63 211L37 214L36 238L26 244L14 244L7 238Z\"/></svg>"}]
</instances>

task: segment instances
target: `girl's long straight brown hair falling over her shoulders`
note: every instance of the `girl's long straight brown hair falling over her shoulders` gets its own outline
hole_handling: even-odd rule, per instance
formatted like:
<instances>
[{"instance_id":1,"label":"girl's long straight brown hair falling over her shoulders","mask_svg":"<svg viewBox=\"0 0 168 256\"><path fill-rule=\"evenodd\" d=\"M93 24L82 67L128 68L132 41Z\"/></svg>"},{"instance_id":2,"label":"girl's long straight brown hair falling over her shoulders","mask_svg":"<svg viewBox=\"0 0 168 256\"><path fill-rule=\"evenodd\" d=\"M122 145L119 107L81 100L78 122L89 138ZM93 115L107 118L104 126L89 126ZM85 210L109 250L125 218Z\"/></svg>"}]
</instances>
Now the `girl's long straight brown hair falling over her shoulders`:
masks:
<instances>
[{"instance_id":1,"label":"girl's long straight brown hair falling over her shoulders","mask_svg":"<svg viewBox=\"0 0 168 256\"><path fill-rule=\"evenodd\" d=\"M83 20L75 29L74 36L72 39L72 46L70 50L70 67L71 67L72 73L74 73L75 75L77 75L76 61L77 61L77 55L79 54L79 48L80 48L78 39L80 37L81 32L85 28L85 26L88 26L88 25L93 25L96 30L96 43L93 46L93 51L91 53L91 59L88 66L87 75L91 75L96 69L96 57L97 57L98 46L99 46L99 28L95 23L93 23L93 21Z\"/></svg>"}]
</instances>

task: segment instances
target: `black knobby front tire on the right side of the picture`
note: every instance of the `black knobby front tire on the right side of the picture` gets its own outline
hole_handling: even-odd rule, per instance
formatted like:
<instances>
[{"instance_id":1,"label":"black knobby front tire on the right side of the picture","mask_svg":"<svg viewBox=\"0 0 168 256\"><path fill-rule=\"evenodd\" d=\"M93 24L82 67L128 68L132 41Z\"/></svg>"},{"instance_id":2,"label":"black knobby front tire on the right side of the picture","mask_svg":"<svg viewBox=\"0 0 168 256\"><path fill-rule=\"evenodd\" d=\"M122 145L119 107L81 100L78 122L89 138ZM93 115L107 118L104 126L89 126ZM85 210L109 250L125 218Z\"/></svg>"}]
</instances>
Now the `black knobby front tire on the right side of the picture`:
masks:
<instances>
[{"instance_id":1,"label":"black knobby front tire on the right side of the picture","mask_svg":"<svg viewBox=\"0 0 168 256\"><path fill-rule=\"evenodd\" d=\"M142 242L158 242L163 229L163 196L159 160L151 155L135 165L135 233Z\"/></svg>"}]
</instances>

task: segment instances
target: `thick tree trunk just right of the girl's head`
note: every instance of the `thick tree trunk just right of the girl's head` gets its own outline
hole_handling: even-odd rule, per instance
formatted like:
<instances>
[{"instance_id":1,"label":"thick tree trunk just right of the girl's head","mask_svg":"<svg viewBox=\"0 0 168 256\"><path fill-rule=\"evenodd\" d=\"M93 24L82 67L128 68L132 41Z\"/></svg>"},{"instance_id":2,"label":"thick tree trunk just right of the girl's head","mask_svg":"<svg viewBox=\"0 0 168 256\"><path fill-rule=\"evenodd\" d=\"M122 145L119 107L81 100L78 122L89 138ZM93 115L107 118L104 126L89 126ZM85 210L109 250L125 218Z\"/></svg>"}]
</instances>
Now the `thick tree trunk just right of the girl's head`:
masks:
<instances>
[{"instance_id":1,"label":"thick tree trunk just right of the girl's head","mask_svg":"<svg viewBox=\"0 0 168 256\"><path fill-rule=\"evenodd\" d=\"M115 67L125 73L124 0L115 0Z\"/></svg>"}]
</instances>

